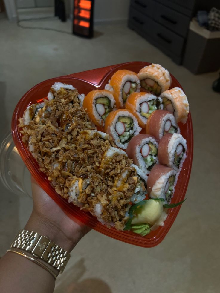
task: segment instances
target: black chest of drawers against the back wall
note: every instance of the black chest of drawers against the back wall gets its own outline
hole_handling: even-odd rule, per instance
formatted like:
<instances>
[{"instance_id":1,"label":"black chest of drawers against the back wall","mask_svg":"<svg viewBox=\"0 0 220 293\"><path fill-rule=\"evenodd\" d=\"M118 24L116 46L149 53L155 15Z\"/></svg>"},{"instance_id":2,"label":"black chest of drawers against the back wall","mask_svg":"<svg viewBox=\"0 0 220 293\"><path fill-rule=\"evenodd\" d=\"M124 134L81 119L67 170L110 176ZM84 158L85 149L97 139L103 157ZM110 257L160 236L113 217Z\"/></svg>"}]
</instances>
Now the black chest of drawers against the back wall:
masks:
<instances>
[{"instance_id":1,"label":"black chest of drawers against the back wall","mask_svg":"<svg viewBox=\"0 0 220 293\"><path fill-rule=\"evenodd\" d=\"M192 16L217 3L219 0L131 0L128 26L181 64Z\"/></svg>"}]
</instances>

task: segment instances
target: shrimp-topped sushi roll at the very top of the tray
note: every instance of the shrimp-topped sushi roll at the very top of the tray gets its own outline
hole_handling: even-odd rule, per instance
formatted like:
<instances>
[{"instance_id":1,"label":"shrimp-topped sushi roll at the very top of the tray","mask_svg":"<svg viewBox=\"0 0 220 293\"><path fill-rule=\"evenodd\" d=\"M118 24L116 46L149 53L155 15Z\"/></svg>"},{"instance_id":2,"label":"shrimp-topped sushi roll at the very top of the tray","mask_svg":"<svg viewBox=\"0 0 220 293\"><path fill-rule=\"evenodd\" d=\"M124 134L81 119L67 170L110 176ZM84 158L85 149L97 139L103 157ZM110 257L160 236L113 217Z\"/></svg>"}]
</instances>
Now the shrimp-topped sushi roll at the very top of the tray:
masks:
<instances>
[{"instance_id":1,"label":"shrimp-topped sushi roll at the very top of the tray","mask_svg":"<svg viewBox=\"0 0 220 293\"><path fill-rule=\"evenodd\" d=\"M137 76L140 79L141 90L159 96L171 85L169 71L160 64L151 64L142 68Z\"/></svg>"}]
</instances>

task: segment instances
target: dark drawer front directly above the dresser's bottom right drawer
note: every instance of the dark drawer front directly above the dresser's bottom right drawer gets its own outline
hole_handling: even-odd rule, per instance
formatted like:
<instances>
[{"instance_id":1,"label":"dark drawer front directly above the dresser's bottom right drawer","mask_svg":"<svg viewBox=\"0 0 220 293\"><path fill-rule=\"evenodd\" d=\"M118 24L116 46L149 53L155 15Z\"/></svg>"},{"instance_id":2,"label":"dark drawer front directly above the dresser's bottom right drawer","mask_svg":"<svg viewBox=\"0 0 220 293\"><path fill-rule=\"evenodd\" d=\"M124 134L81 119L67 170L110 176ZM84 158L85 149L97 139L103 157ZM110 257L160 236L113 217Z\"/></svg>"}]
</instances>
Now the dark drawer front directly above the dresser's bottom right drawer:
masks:
<instances>
[{"instance_id":1,"label":"dark drawer front directly above the dresser's bottom right drawer","mask_svg":"<svg viewBox=\"0 0 220 293\"><path fill-rule=\"evenodd\" d=\"M190 17L178 13L169 7L157 3L154 20L183 37L187 35Z\"/></svg>"}]
</instances>

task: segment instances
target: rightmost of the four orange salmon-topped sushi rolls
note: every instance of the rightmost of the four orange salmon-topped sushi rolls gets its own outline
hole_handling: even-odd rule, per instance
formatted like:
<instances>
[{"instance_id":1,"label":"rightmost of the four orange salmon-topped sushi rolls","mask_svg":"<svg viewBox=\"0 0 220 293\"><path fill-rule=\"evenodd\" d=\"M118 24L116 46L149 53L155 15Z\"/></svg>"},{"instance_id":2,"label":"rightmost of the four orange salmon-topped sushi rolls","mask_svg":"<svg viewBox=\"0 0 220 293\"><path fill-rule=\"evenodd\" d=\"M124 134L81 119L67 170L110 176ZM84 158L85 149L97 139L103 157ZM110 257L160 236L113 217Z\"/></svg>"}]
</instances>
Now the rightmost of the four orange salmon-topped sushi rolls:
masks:
<instances>
[{"instance_id":1,"label":"rightmost of the four orange salmon-topped sushi rolls","mask_svg":"<svg viewBox=\"0 0 220 293\"><path fill-rule=\"evenodd\" d=\"M125 108L131 110L137 118L138 124L145 128L150 114L158 109L163 109L162 99L151 93L132 93L128 97Z\"/></svg>"}]
</instances>

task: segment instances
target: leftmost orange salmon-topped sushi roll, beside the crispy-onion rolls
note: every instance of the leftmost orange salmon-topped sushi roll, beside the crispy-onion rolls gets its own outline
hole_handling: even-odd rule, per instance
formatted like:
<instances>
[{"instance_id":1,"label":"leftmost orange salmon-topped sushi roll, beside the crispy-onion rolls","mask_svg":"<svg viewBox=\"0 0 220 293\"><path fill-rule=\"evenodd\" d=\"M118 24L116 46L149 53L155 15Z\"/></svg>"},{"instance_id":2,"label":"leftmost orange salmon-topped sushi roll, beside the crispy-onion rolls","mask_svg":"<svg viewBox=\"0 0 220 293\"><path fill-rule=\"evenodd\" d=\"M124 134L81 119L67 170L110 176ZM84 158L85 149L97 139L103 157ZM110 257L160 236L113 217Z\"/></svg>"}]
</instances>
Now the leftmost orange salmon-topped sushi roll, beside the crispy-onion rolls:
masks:
<instances>
[{"instance_id":1,"label":"leftmost orange salmon-topped sushi roll, beside the crispy-onion rolls","mask_svg":"<svg viewBox=\"0 0 220 293\"><path fill-rule=\"evenodd\" d=\"M106 117L115 107L115 100L109 90L92 90L83 100L83 108L97 126L104 126Z\"/></svg>"}]
</instances>

